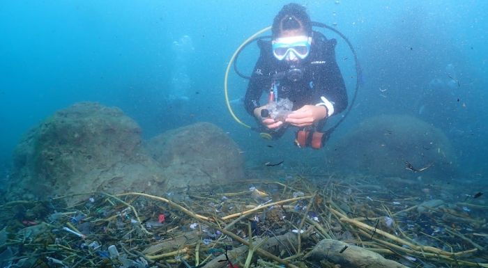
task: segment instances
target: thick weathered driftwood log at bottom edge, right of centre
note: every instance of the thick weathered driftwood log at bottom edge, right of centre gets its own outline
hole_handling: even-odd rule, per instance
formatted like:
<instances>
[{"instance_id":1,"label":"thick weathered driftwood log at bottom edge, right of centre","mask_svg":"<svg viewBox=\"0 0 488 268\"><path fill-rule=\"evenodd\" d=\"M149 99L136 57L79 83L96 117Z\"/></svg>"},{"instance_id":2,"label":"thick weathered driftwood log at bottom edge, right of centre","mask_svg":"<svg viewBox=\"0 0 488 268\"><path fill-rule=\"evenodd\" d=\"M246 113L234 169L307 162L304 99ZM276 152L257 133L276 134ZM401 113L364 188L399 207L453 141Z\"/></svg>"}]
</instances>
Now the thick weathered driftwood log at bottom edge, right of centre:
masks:
<instances>
[{"instance_id":1,"label":"thick weathered driftwood log at bottom edge, right of centre","mask_svg":"<svg viewBox=\"0 0 488 268\"><path fill-rule=\"evenodd\" d=\"M398 262L383 258L378 253L333 239L323 239L305 257L317 262L332 262L343 268L406 268Z\"/></svg>"}]
</instances>

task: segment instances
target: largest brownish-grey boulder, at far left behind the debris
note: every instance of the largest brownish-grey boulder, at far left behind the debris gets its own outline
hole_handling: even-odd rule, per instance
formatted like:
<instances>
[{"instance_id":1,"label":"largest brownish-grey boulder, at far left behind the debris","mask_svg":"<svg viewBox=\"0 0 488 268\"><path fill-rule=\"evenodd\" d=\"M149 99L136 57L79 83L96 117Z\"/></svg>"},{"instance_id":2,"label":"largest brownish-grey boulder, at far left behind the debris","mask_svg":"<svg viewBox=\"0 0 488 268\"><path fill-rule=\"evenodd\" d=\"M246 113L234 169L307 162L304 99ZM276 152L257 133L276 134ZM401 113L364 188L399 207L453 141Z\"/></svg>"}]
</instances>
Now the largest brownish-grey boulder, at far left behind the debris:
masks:
<instances>
[{"instance_id":1,"label":"largest brownish-grey boulder, at far left behind the debris","mask_svg":"<svg viewBox=\"0 0 488 268\"><path fill-rule=\"evenodd\" d=\"M140 133L137 123L115 107L82 102L57 111L17 145L10 198L160 193L164 171L144 151Z\"/></svg>"}]
</instances>

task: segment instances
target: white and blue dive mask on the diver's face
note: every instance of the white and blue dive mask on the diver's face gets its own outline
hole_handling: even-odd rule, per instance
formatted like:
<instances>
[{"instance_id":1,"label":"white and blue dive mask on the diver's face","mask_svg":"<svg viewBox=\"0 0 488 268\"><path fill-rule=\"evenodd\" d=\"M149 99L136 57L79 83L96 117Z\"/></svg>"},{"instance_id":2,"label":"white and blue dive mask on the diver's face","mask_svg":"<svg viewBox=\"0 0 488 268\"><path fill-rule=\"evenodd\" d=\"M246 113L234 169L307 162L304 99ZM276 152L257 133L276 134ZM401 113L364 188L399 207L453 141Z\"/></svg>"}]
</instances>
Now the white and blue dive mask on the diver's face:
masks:
<instances>
[{"instance_id":1,"label":"white and blue dive mask on the diver's face","mask_svg":"<svg viewBox=\"0 0 488 268\"><path fill-rule=\"evenodd\" d=\"M290 36L273 40L273 55L279 61L293 53L298 58L304 59L310 54L312 38L309 36Z\"/></svg>"}]
</instances>

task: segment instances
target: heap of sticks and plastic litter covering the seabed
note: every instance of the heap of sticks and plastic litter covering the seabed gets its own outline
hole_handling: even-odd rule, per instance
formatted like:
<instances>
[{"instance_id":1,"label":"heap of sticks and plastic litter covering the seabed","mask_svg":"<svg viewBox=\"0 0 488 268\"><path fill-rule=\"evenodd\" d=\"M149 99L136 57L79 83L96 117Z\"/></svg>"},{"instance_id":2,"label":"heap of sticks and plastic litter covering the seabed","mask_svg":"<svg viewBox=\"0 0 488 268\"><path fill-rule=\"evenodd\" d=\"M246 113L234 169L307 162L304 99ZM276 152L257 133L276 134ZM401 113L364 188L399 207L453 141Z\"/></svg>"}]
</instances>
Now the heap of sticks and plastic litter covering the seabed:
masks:
<instances>
[{"instance_id":1,"label":"heap of sticks and plastic litter covering the seabed","mask_svg":"<svg viewBox=\"0 0 488 268\"><path fill-rule=\"evenodd\" d=\"M1 267L488 267L482 193L296 176L82 195L1 205Z\"/></svg>"}]
</instances>

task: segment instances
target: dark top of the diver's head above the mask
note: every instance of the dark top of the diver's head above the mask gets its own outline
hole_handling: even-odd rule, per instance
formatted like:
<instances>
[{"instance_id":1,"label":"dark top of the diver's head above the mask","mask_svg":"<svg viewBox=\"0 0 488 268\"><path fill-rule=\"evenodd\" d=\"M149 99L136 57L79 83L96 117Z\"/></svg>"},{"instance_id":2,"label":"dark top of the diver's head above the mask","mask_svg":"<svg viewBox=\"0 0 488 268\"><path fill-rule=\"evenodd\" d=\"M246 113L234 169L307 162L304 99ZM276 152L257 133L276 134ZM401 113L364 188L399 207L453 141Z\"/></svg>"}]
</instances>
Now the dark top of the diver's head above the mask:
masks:
<instances>
[{"instance_id":1,"label":"dark top of the diver's head above the mask","mask_svg":"<svg viewBox=\"0 0 488 268\"><path fill-rule=\"evenodd\" d=\"M273 38L280 36L282 31L303 29L309 36L312 34L312 22L305 6L298 3L284 5L273 20Z\"/></svg>"}]
</instances>

